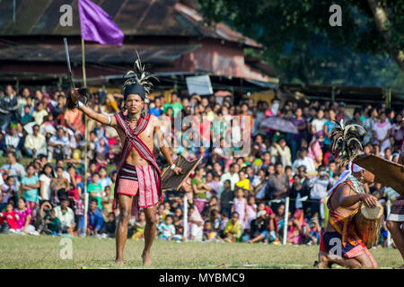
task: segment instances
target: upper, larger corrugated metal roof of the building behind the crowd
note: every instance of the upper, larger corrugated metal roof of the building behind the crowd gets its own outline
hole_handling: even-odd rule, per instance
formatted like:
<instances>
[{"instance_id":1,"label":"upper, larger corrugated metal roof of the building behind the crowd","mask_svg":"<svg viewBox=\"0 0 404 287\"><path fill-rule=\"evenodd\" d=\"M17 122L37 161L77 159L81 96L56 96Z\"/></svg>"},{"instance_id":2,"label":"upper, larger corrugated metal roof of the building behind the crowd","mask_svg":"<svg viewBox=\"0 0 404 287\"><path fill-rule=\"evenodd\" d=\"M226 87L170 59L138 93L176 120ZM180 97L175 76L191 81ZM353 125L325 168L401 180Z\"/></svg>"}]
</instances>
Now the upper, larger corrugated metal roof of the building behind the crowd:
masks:
<instances>
[{"instance_id":1,"label":"upper, larger corrugated metal roof of the building behind the crowd","mask_svg":"<svg viewBox=\"0 0 404 287\"><path fill-rule=\"evenodd\" d=\"M193 0L92 0L110 14L126 36L208 37L261 48L253 39L230 29L223 23L215 28L206 25ZM60 6L72 4L73 26L59 25ZM80 35L76 0L16 0L16 22L13 1L0 1L0 36Z\"/></svg>"}]
</instances>

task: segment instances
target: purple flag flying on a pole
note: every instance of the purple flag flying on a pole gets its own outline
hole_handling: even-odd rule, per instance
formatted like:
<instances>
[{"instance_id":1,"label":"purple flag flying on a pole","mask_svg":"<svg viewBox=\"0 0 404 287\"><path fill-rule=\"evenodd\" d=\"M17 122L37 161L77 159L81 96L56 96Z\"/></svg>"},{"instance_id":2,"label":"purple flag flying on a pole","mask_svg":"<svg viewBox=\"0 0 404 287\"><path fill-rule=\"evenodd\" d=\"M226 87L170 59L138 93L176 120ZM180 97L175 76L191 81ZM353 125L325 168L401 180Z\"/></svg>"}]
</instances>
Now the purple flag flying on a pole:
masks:
<instances>
[{"instance_id":1,"label":"purple flag flying on a pole","mask_svg":"<svg viewBox=\"0 0 404 287\"><path fill-rule=\"evenodd\" d=\"M110 20L110 15L90 0L79 0L82 39L122 46L124 33Z\"/></svg>"}]
</instances>

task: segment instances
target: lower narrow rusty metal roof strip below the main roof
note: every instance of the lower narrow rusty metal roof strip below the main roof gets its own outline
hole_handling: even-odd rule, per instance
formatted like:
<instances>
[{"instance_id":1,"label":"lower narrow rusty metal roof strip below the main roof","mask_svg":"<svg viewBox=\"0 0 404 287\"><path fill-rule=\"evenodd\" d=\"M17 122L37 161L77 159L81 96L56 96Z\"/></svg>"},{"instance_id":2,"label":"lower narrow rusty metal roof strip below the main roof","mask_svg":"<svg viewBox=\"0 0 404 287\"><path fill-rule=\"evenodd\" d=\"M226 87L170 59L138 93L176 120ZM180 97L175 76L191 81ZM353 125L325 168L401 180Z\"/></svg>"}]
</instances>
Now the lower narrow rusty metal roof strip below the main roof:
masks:
<instances>
[{"instance_id":1,"label":"lower narrow rusty metal roof strip below the main roof","mask_svg":"<svg viewBox=\"0 0 404 287\"><path fill-rule=\"evenodd\" d=\"M136 59L137 49L144 63L164 64L171 63L198 47L198 45L168 45L163 47L125 45L117 47L93 44L85 48L85 61L104 64L133 63ZM80 45L69 45L69 54L72 62L81 63L82 48ZM66 62L66 55L63 45L19 45L1 49L0 60Z\"/></svg>"}]
</instances>

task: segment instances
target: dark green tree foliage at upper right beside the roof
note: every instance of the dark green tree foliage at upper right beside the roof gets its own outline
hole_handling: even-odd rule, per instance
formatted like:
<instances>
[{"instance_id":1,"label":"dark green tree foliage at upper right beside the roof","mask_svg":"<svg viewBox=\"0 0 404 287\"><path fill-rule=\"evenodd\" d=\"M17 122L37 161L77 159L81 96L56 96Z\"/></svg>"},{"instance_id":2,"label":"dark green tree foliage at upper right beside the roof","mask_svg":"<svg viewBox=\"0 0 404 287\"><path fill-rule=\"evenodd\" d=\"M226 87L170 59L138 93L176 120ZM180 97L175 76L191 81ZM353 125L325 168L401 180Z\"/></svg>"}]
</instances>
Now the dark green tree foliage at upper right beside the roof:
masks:
<instances>
[{"instance_id":1,"label":"dark green tree foliage at upper right beside the roof","mask_svg":"<svg viewBox=\"0 0 404 287\"><path fill-rule=\"evenodd\" d=\"M264 45L282 82L381 85L404 89L403 73L376 28L367 1L199 0L207 22L225 22ZM329 25L339 4L342 26ZM382 1L391 46L404 49L404 1Z\"/></svg>"}]
</instances>

